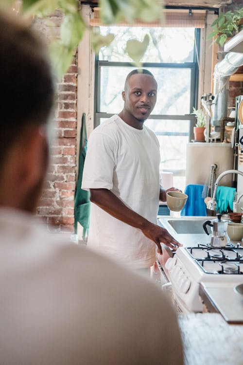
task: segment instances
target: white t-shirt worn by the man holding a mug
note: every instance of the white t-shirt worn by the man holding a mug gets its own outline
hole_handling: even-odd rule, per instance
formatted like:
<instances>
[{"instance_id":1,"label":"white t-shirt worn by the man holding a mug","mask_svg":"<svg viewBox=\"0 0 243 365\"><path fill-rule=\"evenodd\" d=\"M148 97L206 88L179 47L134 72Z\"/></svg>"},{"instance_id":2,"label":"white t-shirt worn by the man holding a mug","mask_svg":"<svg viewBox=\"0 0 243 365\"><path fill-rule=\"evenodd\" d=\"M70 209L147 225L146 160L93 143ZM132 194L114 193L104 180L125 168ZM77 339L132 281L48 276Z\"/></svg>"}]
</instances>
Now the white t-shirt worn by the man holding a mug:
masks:
<instances>
[{"instance_id":1,"label":"white t-shirt worn by the man holding a mug","mask_svg":"<svg viewBox=\"0 0 243 365\"><path fill-rule=\"evenodd\" d=\"M159 204L159 143L152 130L136 129L113 115L88 139L83 189L105 188L136 213L156 223ZM156 260L156 245L91 204L88 245L136 268Z\"/></svg>"}]
</instances>

